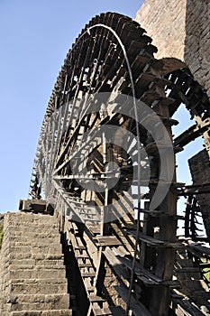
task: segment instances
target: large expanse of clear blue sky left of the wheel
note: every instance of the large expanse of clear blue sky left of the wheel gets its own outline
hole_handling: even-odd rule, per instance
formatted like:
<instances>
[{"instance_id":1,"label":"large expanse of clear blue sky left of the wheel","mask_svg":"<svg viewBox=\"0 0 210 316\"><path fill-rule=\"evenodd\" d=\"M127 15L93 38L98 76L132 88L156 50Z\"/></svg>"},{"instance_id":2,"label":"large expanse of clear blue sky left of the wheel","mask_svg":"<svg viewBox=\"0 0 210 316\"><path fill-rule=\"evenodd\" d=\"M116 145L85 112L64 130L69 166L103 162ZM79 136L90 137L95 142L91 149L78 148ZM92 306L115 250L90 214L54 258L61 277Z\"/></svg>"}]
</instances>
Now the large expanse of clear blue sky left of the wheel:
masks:
<instances>
[{"instance_id":1,"label":"large expanse of clear blue sky left of the wheel","mask_svg":"<svg viewBox=\"0 0 210 316\"><path fill-rule=\"evenodd\" d=\"M0 0L0 212L27 199L42 118L60 67L83 26L141 0Z\"/></svg>"}]
</instances>

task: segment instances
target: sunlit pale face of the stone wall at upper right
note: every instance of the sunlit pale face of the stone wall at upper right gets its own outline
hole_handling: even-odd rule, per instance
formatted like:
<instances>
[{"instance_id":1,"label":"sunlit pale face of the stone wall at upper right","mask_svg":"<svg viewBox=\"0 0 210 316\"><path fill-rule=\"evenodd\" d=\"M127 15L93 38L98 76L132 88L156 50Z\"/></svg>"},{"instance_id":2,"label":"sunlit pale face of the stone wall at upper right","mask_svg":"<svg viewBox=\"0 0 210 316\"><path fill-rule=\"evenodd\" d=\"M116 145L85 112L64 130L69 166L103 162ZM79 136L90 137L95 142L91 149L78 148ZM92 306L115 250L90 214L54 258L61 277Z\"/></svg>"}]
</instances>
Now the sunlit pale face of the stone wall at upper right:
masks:
<instances>
[{"instance_id":1,"label":"sunlit pale face of the stone wall at upper right","mask_svg":"<svg viewBox=\"0 0 210 316\"><path fill-rule=\"evenodd\" d=\"M175 57L184 60L186 0L146 0L135 20L158 47L156 58Z\"/></svg>"}]
</instances>

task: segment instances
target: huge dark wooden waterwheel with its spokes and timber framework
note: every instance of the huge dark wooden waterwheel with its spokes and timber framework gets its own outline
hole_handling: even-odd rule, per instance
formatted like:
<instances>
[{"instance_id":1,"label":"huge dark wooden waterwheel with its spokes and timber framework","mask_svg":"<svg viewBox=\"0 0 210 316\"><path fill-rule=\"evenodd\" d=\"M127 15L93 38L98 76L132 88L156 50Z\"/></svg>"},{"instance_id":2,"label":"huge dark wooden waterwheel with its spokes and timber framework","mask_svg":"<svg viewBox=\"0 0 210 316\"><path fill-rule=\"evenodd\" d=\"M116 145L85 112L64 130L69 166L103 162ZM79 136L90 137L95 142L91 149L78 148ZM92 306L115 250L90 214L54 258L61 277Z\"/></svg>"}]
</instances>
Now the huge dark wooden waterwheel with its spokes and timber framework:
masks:
<instances>
[{"instance_id":1,"label":"huge dark wooden waterwheel with its spokes and timber framework","mask_svg":"<svg viewBox=\"0 0 210 316\"><path fill-rule=\"evenodd\" d=\"M187 225L177 214L178 196L209 188L178 183L174 155L200 135L209 153L210 103L187 68L155 60L156 51L131 18L96 16L68 51L44 116L32 198L42 189L59 217L84 287L70 287L76 315L209 309L199 261L209 265L209 248L177 237L178 220ZM173 115L183 103L196 123L174 139ZM109 180L116 180L111 189ZM81 293L86 308L77 301Z\"/></svg>"}]
</instances>

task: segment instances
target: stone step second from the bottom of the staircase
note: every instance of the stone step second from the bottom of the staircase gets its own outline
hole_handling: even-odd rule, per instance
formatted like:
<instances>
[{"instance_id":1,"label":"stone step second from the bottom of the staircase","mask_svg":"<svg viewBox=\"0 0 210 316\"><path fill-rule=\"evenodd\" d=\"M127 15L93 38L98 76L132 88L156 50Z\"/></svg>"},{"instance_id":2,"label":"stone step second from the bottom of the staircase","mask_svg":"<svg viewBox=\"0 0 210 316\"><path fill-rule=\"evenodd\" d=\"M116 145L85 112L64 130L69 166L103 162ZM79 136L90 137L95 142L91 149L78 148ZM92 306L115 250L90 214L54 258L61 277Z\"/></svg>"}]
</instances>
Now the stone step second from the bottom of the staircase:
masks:
<instances>
[{"instance_id":1,"label":"stone step second from the bottom of the staircase","mask_svg":"<svg viewBox=\"0 0 210 316\"><path fill-rule=\"evenodd\" d=\"M11 302L13 303L11 303ZM11 295L11 300L5 304L5 311L50 311L50 310L68 310L69 295L59 294L18 294ZM27 315L27 314L26 314Z\"/></svg>"}]
</instances>

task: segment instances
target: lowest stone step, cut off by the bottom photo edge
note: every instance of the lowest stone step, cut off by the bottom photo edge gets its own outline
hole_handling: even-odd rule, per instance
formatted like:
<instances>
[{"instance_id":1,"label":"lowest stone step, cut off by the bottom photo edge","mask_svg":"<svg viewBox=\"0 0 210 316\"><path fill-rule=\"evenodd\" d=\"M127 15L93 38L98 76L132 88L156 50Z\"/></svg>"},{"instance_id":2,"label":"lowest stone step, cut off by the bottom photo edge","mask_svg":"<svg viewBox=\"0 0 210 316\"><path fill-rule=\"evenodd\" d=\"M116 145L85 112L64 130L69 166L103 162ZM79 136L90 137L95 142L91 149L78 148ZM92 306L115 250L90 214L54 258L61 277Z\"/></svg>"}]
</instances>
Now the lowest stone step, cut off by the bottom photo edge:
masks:
<instances>
[{"instance_id":1,"label":"lowest stone step, cut off by the bottom photo edge","mask_svg":"<svg viewBox=\"0 0 210 316\"><path fill-rule=\"evenodd\" d=\"M9 316L72 316L72 311L71 310L12 311Z\"/></svg>"}]
</instances>

